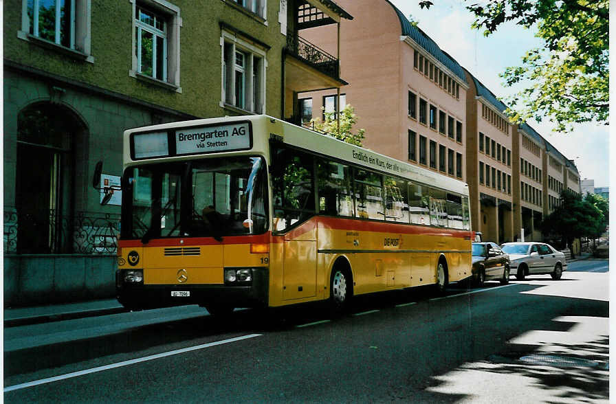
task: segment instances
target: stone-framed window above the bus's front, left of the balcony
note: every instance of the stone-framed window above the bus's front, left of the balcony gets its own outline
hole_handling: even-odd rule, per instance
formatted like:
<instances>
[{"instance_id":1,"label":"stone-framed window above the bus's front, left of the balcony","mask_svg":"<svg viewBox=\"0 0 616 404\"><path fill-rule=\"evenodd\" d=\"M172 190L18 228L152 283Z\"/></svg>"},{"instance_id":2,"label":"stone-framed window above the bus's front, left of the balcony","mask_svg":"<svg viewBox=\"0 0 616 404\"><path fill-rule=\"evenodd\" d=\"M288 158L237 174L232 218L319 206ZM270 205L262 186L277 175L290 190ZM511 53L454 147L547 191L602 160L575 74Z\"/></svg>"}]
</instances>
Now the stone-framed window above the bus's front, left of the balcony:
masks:
<instances>
[{"instance_id":1,"label":"stone-framed window above the bus's front, left of the balcony","mask_svg":"<svg viewBox=\"0 0 616 404\"><path fill-rule=\"evenodd\" d=\"M254 113L265 111L265 50L223 31L221 106Z\"/></svg>"}]
</instances>

